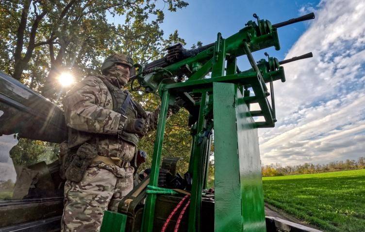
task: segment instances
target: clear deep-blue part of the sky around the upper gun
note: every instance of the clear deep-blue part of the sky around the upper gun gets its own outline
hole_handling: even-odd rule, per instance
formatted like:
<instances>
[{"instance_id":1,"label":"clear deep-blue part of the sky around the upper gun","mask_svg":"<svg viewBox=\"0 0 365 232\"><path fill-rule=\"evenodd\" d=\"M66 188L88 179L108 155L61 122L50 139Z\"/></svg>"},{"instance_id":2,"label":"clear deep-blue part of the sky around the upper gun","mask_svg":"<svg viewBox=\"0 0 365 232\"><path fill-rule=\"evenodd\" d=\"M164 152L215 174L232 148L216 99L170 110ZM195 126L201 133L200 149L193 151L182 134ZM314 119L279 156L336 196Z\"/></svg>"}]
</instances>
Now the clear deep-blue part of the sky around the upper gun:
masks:
<instances>
[{"instance_id":1,"label":"clear deep-blue part of the sky around the upper gun","mask_svg":"<svg viewBox=\"0 0 365 232\"><path fill-rule=\"evenodd\" d=\"M315 6L318 2L318 0L231 0L227 3L221 0L189 1L189 6L178 12L165 11L162 29L166 35L178 30L179 35L186 42L186 47L189 48L197 41L203 42L203 45L214 42L218 32L221 32L223 37L229 37L245 27L245 23L249 20L256 20L252 17L253 13L262 19L278 23L303 15L300 9ZM265 51L270 56L282 60L307 27L308 23L297 23L280 28L281 50L268 48ZM264 58L265 51L255 52L255 59ZM246 57L239 58L239 66L241 69L249 68Z\"/></svg>"}]
</instances>

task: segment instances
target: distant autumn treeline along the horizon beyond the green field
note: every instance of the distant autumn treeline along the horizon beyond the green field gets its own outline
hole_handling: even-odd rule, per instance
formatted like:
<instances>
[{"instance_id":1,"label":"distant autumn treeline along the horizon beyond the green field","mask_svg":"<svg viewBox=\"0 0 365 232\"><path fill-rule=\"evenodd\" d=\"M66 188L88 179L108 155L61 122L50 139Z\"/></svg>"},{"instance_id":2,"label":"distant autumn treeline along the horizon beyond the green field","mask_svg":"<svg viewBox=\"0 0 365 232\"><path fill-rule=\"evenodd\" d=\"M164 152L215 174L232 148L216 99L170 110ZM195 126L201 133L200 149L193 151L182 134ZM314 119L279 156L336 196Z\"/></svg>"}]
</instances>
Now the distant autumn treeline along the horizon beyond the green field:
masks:
<instances>
[{"instance_id":1,"label":"distant autumn treeline along the horizon beyond the green field","mask_svg":"<svg viewBox=\"0 0 365 232\"><path fill-rule=\"evenodd\" d=\"M347 159L346 161L334 161L328 164L304 163L282 167L280 163L276 163L261 167L263 176L283 176L354 169L365 169L365 157L360 157L357 160Z\"/></svg>"}]
</instances>

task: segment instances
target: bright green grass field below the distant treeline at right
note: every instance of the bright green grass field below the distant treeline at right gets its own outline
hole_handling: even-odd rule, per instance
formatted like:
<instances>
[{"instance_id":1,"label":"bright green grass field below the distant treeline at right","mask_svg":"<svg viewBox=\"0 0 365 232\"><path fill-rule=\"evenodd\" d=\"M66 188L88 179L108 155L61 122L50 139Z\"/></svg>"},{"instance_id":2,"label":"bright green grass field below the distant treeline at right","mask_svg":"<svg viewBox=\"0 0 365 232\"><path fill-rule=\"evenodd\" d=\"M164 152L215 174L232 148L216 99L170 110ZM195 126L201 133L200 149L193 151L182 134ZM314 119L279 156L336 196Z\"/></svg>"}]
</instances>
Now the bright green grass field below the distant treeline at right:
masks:
<instances>
[{"instance_id":1,"label":"bright green grass field below the distant treeline at right","mask_svg":"<svg viewBox=\"0 0 365 232\"><path fill-rule=\"evenodd\" d=\"M326 232L365 231L365 169L264 177L265 202Z\"/></svg>"}]
</instances>

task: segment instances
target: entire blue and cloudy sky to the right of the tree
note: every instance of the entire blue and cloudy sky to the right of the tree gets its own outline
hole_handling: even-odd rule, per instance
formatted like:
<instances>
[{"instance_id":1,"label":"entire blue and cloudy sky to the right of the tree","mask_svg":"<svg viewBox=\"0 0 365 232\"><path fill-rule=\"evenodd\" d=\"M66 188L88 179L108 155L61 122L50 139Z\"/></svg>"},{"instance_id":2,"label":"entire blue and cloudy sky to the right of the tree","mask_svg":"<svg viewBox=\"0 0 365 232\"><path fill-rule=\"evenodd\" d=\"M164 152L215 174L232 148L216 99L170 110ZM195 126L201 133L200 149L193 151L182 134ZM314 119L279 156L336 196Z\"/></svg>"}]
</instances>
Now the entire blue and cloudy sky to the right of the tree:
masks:
<instances>
[{"instance_id":1,"label":"entire blue and cloudy sky to the right of the tree","mask_svg":"<svg viewBox=\"0 0 365 232\"><path fill-rule=\"evenodd\" d=\"M282 49L266 51L279 60L313 52L314 58L284 64L286 82L275 82L275 128L259 129L262 163L323 164L365 156L365 1L196 0L166 12L162 28L174 30L190 47L209 44L216 33L229 37L252 14L281 22L315 12L315 20L279 29ZM245 56L240 69L248 68Z\"/></svg>"}]
</instances>

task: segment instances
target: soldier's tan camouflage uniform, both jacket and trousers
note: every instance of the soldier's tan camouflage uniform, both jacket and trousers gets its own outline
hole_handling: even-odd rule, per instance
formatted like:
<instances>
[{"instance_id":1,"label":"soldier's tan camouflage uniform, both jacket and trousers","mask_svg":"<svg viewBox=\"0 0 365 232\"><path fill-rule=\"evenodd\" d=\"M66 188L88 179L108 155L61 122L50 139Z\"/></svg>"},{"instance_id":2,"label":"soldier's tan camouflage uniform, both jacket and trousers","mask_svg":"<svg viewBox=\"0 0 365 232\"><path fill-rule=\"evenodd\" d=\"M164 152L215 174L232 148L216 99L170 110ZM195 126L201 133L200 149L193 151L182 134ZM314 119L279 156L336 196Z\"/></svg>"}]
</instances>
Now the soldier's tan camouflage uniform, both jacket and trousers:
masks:
<instances>
[{"instance_id":1,"label":"soldier's tan camouflage uniform, both jacket and trousers","mask_svg":"<svg viewBox=\"0 0 365 232\"><path fill-rule=\"evenodd\" d=\"M117 133L126 117L113 110L113 99L103 78L118 86L116 77L89 76L67 94L64 102L69 127L68 147L86 141L96 146L98 155L131 161L136 144L121 139ZM129 110L135 109L129 106ZM157 126L159 108L147 112L149 130ZM61 231L99 231L105 210L116 211L118 202L133 189L133 167L118 167L93 162L80 182L66 181L65 208Z\"/></svg>"}]
</instances>

